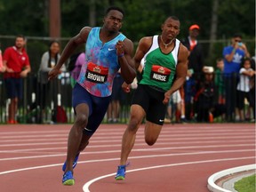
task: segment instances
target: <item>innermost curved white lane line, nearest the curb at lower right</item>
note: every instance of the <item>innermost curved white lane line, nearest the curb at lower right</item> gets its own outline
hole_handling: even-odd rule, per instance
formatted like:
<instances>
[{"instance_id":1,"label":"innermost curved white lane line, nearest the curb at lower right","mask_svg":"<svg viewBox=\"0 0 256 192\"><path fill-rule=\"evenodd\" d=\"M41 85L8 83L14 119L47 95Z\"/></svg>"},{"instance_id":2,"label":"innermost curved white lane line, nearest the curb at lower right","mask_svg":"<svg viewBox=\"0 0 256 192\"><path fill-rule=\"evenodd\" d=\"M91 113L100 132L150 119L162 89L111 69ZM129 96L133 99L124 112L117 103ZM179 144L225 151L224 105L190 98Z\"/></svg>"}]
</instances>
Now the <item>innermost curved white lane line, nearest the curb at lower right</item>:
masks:
<instances>
[{"instance_id":1,"label":"innermost curved white lane line, nearest the curb at lower right","mask_svg":"<svg viewBox=\"0 0 256 192\"><path fill-rule=\"evenodd\" d=\"M163 164L163 165L156 165L156 166L150 166L150 167L143 167L143 168L140 168L140 169L133 169L133 170L129 170L127 172L140 172L140 171L144 171L144 170L159 169L159 168L163 168L163 167L180 166L180 165L187 165L187 164L205 164L205 163L211 163L212 164L212 162L236 161L236 160L244 160L244 159L251 159L251 158L254 158L254 156L238 157L238 158L212 159L212 160L206 160L206 161L185 162L185 163L179 163L179 164ZM110 173L110 174L107 174L107 175L102 175L102 176L100 176L98 178L95 178L93 180L89 180L83 186L84 192L90 192L89 188L92 185L92 183L94 183L95 181L102 180L102 179L105 179L107 177L112 177L112 176L115 176L115 175L116 175L116 172Z\"/></svg>"}]
</instances>

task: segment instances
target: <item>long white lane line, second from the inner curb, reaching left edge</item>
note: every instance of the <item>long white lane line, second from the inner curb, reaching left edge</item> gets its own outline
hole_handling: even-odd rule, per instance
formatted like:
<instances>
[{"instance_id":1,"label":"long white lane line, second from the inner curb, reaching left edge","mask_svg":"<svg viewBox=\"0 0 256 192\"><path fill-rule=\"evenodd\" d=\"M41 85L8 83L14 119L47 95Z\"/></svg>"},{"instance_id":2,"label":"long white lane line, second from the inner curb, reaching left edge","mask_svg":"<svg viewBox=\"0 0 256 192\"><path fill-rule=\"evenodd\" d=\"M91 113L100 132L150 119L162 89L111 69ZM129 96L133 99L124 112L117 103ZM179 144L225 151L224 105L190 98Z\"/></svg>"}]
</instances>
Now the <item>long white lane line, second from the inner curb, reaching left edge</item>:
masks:
<instances>
[{"instance_id":1,"label":"long white lane line, second from the inner curb, reaching left edge","mask_svg":"<svg viewBox=\"0 0 256 192\"><path fill-rule=\"evenodd\" d=\"M254 150L224 150L224 151L203 151L203 152L191 152L191 153L179 153L179 154L157 154L157 155L149 155L149 156L131 156L129 159L140 159L140 158L156 158L156 157L165 157L165 156L193 156L193 155L209 155L209 154L227 154L227 153L243 153L248 151L254 151ZM103 153L103 152L101 152ZM59 155L56 155L59 156ZM66 155L62 155L66 156ZM37 156L35 156L36 158ZM44 156L49 157L49 156ZM119 157L115 158L106 158L106 159L92 159L92 160L86 160L86 161L79 161L78 164L89 164L89 163L101 163L101 162L108 162L108 161L118 161ZM9 170L0 172L0 175L12 173L12 172L22 172L22 171L28 171L28 170L35 170L35 169L42 169L42 168L48 168L53 166L60 166L61 164L46 164L41 166L34 166L34 167L28 167L28 168L20 168L16 170Z\"/></svg>"}]
</instances>

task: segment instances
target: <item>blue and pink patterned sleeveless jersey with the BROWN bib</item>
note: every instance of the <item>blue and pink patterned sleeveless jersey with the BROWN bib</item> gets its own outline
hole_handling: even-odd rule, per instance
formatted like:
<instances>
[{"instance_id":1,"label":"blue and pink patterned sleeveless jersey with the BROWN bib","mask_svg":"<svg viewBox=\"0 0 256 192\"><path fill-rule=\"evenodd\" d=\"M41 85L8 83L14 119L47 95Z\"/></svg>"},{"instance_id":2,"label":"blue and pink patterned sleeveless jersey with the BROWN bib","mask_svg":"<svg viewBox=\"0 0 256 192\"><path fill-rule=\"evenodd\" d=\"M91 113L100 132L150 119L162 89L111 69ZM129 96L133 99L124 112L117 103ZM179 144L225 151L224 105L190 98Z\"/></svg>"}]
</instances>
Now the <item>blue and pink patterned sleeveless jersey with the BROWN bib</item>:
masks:
<instances>
[{"instance_id":1,"label":"blue and pink patterned sleeveless jersey with the BROWN bib","mask_svg":"<svg viewBox=\"0 0 256 192\"><path fill-rule=\"evenodd\" d=\"M100 28L92 28L85 44L85 63L81 68L77 83L97 97L108 97L112 93L113 79L118 69L116 43L126 37L119 34L103 44Z\"/></svg>"}]
</instances>

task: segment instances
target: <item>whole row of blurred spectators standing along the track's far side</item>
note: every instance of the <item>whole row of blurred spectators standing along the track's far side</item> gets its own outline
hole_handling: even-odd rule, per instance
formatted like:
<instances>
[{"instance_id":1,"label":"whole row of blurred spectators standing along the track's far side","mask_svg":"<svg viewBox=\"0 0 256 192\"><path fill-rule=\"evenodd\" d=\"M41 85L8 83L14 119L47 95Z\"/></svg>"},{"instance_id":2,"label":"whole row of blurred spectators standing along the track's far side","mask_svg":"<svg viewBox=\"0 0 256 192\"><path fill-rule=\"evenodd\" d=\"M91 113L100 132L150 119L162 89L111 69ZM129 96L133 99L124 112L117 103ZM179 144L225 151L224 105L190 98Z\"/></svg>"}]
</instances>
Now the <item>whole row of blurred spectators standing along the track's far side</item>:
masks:
<instances>
[{"instance_id":1,"label":"whole row of blurred spectators standing along the track's far side","mask_svg":"<svg viewBox=\"0 0 256 192\"><path fill-rule=\"evenodd\" d=\"M242 36L235 34L230 38L230 44L223 47L222 55L216 59L216 63L205 63L203 48L198 41L199 34L200 27L194 24L188 28L188 36L182 40L182 44L189 51L188 74L185 84L172 94L164 122L255 122L255 55L250 55ZM22 82L31 70L25 44L25 36L16 36L13 46L4 52L0 51L0 71L3 73L7 99L10 99L7 124L19 123L16 115L23 95ZM40 107L40 118L45 119L45 106L50 103L52 122L57 121L56 108L61 106L61 84L60 79L49 82L48 72L59 59L60 43L51 41L49 49L42 54L36 76L38 89L35 103ZM79 52L70 58L67 68L65 65L61 68L62 72L70 73L72 87L76 84L84 61L84 52ZM143 66L139 69L141 72ZM140 72L134 79L133 89L140 82ZM120 122L122 104L127 99L121 87L123 82L118 73L113 84L112 101L108 107L108 123Z\"/></svg>"}]
</instances>

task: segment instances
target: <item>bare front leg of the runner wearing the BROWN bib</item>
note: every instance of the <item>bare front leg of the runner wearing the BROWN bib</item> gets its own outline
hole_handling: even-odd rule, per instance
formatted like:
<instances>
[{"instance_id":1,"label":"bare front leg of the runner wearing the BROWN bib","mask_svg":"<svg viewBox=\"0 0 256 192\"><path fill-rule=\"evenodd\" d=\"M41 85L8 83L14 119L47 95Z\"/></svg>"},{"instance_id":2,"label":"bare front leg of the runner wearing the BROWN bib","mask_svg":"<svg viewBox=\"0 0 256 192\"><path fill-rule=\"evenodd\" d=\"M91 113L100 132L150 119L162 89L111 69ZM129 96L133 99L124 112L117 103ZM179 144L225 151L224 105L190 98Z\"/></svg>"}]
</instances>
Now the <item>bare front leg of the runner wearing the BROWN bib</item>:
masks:
<instances>
[{"instance_id":1,"label":"bare front leg of the runner wearing the BROWN bib","mask_svg":"<svg viewBox=\"0 0 256 192\"><path fill-rule=\"evenodd\" d=\"M72 165L76 154L88 144L90 137L83 136L84 127L88 123L88 115L89 108L86 104L82 103L76 106L76 121L68 134L67 166L65 172L73 172Z\"/></svg>"}]
</instances>

